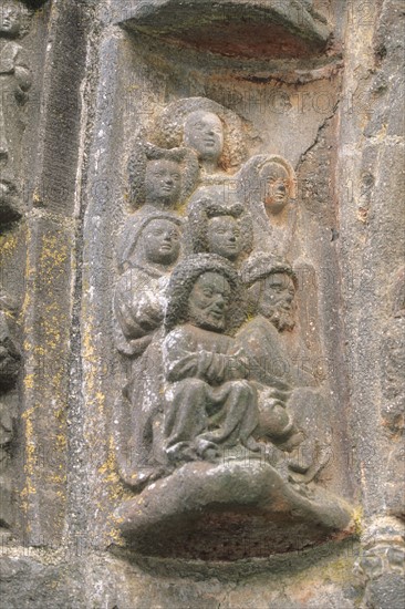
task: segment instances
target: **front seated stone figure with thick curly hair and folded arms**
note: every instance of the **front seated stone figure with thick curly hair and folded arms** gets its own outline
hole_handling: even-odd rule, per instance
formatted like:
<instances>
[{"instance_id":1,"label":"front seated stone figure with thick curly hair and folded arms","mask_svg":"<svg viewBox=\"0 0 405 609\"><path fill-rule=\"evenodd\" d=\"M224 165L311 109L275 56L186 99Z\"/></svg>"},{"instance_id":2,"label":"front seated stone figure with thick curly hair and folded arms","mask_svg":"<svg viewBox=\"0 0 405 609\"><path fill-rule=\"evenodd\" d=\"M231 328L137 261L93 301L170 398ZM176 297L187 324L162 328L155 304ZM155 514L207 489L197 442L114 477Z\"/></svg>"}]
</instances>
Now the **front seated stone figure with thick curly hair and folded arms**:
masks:
<instances>
[{"instance_id":1,"label":"front seated stone figure with thick curly hair and folded arms","mask_svg":"<svg viewBox=\"0 0 405 609\"><path fill-rule=\"evenodd\" d=\"M259 448L256 390L246 380L243 350L226 334L237 292L233 269L215 255L189 257L172 276L163 345L170 461L209 460L219 447Z\"/></svg>"}]
</instances>

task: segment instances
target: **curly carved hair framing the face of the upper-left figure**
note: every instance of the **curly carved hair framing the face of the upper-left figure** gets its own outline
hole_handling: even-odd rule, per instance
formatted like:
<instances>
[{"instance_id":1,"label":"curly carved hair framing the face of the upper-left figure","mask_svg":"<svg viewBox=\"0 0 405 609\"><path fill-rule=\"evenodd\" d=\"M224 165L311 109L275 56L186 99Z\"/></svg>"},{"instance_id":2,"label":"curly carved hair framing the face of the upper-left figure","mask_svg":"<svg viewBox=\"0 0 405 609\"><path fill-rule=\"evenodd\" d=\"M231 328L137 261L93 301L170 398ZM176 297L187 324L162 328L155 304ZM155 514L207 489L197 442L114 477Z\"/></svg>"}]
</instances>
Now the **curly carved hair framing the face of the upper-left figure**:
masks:
<instances>
[{"instance_id":1,"label":"curly carved hair framing the face of the upper-left figure","mask_svg":"<svg viewBox=\"0 0 405 609\"><path fill-rule=\"evenodd\" d=\"M133 209L145 203L145 174L148 161L172 161L181 171L180 203L194 192L198 179L198 159L194 151L185 147L159 148L149 142L137 140L128 161L129 202Z\"/></svg>"}]
</instances>

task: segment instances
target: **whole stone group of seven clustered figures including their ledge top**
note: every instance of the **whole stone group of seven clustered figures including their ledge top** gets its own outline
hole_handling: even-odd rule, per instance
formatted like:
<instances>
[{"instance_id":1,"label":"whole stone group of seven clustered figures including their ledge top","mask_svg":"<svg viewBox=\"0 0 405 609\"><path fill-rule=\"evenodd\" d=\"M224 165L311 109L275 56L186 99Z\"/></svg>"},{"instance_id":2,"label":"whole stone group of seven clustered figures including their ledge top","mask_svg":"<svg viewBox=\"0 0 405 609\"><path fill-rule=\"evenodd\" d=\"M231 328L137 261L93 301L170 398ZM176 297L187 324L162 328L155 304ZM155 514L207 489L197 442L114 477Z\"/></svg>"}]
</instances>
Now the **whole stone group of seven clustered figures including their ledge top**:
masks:
<instances>
[{"instance_id":1,"label":"whole stone group of seven clustered figures including their ledge top","mask_svg":"<svg viewBox=\"0 0 405 609\"><path fill-rule=\"evenodd\" d=\"M127 363L117 462L141 492L116 510L118 526L139 545L160 526L188 530L196 510L246 514L247 502L276 528L330 535L351 510L316 484L331 454L329 405L293 355L294 171L271 154L240 167L243 148L229 151L241 121L210 100L169 104L157 127L167 147L138 141L129 159L137 210L117 248L114 332Z\"/></svg>"}]
</instances>

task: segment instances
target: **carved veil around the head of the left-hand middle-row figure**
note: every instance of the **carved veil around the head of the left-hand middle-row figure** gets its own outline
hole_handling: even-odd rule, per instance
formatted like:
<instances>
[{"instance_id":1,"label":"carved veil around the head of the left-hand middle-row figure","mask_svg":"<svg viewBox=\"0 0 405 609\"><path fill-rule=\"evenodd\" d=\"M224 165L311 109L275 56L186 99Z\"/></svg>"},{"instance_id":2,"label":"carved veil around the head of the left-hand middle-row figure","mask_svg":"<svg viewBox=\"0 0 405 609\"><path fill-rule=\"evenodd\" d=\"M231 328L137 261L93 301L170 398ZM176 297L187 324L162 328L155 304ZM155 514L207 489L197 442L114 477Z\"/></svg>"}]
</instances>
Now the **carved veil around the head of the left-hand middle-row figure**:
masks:
<instances>
[{"instance_id":1,"label":"carved veil around the head of the left-hand middle-row figure","mask_svg":"<svg viewBox=\"0 0 405 609\"><path fill-rule=\"evenodd\" d=\"M117 266L120 272L124 272L127 268L129 268L129 260L134 255L136 246L138 245L142 233L153 220L168 220L178 227L183 225L183 220L180 218L164 211L156 211L156 214L150 213L147 216L139 216L137 214L131 216L125 223L118 241Z\"/></svg>"}]
</instances>

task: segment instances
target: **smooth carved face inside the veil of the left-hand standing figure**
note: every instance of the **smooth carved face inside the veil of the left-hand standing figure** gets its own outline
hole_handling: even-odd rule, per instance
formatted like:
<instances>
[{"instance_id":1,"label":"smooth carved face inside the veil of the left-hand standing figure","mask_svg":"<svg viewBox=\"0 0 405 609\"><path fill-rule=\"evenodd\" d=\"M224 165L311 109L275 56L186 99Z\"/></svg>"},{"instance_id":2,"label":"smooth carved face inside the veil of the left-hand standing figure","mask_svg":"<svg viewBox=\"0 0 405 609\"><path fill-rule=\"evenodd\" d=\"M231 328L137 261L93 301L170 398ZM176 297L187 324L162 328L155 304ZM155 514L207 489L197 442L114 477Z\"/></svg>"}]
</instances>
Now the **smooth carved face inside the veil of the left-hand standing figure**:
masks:
<instances>
[{"instance_id":1,"label":"smooth carved face inside the veil of the left-hand standing figure","mask_svg":"<svg viewBox=\"0 0 405 609\"><path fill-rule=\"evenodd\" d=\"M142 245L148 262L172 265L180 251L180 231L170 220L150 220L143 230Z\"/></svg>"}]
</instances>

